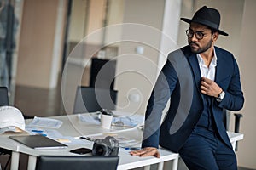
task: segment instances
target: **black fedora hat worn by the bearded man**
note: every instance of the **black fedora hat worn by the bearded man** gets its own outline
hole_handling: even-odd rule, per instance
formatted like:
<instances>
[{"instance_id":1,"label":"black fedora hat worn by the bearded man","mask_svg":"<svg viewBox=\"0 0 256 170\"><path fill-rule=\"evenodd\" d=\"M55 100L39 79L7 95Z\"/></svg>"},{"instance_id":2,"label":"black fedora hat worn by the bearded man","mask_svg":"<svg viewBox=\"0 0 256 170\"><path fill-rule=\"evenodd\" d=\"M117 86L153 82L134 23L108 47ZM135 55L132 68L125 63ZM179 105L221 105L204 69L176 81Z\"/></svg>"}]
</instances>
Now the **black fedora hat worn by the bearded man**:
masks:
<instances>
[{"instance_id":1,"label":"black fedora hat worn by the bearded man","mask_svg":"<svg viewBox=\"0 0 256 170\"><path fill-rule=\"evenodd\" d=\"M213 30L218 31L221 35L229 36L229 34L226 32L218 30L220 14L215 8L207 8L207 6L203 6L198 11L196 11L192 19L181 18L181 20L189 24L191 22L195 22L204 26L208 26Z\"/></svg>"}]
</instances>

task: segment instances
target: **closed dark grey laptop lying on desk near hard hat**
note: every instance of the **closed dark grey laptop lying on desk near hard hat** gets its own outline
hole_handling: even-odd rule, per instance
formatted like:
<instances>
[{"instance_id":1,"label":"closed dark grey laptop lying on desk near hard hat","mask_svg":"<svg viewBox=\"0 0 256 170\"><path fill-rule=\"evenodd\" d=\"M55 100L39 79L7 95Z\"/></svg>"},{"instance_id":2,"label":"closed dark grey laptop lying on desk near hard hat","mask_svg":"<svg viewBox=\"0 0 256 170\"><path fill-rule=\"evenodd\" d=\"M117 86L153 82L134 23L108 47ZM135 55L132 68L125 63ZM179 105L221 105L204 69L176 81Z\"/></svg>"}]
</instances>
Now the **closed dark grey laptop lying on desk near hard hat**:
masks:
<instances>
[{"instance_id":1,"label":"closed dark grey laptop lying on desk near hard hat","mask_svg":"<svg viewBox=\"0 0 256 170\"><path fill-rule=\"evenodd\" d=\"M61 144L54 139L49 139L43 135L25 135L25 136L9 136L20 144L25 144L32 149L64 149L67 148L66 144Z\"/></svg>"}]
</instances>

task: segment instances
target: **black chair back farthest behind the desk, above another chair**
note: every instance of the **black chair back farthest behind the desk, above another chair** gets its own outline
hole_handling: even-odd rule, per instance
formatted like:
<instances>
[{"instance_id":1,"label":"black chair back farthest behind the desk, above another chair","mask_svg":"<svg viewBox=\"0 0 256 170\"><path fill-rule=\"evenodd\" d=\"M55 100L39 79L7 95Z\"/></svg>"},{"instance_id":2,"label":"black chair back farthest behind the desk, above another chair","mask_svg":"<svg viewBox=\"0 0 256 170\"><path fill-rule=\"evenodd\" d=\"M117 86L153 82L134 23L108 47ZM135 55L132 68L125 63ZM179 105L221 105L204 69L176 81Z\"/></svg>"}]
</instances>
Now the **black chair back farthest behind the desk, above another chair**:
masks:
<instances>
[{"instance_id":1,"label":"black chair back farthest behind the desk, above another chair","mask_svg":"<svg viewBox=\"0 0 256 170\"><path fill-rule=\"evenodd\" d=\"M113 89L116 60L91 59L90 87Z\"/></svg>"}]
</instances>

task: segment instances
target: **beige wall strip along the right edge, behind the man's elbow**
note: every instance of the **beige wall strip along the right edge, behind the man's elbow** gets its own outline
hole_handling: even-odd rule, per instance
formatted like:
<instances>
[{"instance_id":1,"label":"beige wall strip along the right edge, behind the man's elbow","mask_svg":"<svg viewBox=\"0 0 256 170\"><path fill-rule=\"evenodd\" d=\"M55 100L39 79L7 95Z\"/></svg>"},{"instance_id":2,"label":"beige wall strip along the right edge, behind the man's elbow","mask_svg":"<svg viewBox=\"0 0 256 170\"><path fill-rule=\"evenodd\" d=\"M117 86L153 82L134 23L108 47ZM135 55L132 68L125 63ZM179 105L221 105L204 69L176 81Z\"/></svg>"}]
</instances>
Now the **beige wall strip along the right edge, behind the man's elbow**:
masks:
<instances>
[{"instance_id":1,"label":"beige wall strip along the right edge, behind the man's elbow","mask_svg":"<svg viewBox=\"0 0 256 170\"><path fill-rule=\"evenodd\" d=\"M256 169L256 114L255 114L255 96L256 96L256 58L254 54L256 30L256 1L245 0L242 23L241 39L238 42L240 46L239 65L241 69L241 82L245 95L245 105L241 113L241 133L244 133L244 139L239 143L238 163L242 167Z\"/></svg>"}]
</instances>

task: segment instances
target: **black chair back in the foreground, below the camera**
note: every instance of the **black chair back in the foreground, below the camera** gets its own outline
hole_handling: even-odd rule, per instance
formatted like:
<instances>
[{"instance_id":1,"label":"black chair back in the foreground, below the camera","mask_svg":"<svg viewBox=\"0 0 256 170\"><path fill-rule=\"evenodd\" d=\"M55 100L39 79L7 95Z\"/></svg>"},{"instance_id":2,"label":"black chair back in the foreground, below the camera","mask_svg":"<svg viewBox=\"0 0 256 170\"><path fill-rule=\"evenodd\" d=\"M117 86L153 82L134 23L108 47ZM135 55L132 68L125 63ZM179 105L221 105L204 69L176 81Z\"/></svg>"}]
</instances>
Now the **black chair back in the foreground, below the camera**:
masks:
<instances>
[{"instance_id":1,"label":"black chair back in the foreground, below the camera","mask_svg":"<svg viewBox=\"0 0 256 170\"><path fill-rule=\"evenodd\" d=\"M39 156L36 170L115 170L119 156Z\"/></svg>"}]
</instances>

